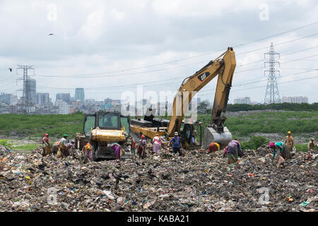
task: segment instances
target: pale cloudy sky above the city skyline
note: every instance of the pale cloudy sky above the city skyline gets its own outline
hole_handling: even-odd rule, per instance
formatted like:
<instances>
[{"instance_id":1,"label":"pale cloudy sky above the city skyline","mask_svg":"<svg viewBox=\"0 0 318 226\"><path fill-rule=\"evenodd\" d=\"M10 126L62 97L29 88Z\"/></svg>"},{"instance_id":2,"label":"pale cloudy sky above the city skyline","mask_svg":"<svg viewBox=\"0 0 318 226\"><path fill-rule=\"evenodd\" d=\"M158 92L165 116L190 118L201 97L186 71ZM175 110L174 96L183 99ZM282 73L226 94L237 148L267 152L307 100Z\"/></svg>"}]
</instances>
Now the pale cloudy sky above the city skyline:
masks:
<instances>
[{"instance_id":1,"label":"pale cloudy sky above the city skyline","mask_svg":"<svg viewBox=\"0 0 318 226\"><path fill-rule=\"evenodd\" d=\"M0 25L4 93L22 95L17 64L34 66L37 92L52 100L76 87L95 100L119 99L136 84L175 92L230 46L237 60L230 103L263 102L264 53L273 42L280 95L318 102L317 0L0 0ZM215 87L216 79L198 97L212 101Z\"/></svg>"}]
</instances>

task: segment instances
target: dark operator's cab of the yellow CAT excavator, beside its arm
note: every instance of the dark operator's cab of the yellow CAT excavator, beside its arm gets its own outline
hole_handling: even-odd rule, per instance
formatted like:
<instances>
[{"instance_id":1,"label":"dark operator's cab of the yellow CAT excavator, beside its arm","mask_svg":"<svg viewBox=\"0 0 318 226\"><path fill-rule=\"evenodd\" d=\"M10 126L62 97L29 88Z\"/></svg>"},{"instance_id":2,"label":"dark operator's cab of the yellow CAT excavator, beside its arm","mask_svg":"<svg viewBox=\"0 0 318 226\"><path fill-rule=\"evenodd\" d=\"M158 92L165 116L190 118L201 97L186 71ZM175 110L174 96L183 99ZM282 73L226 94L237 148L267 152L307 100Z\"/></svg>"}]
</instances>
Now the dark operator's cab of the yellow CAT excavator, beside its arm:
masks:
<instances>
[{"instance_id":1,"label":"dark operator's cab of the yellow CAT excavator, beside its arm","mask_svg":"<svg viewBox=\"0 0 318 226\"><path fill-rule=\"evenodd\" d=\"M197 131L197 129L199 131ZM201 122L187 122L182 121L180 128L180 137L182 145L186 149L200 148L202 145L202 126Z\"/></svg>"}]
</instances>

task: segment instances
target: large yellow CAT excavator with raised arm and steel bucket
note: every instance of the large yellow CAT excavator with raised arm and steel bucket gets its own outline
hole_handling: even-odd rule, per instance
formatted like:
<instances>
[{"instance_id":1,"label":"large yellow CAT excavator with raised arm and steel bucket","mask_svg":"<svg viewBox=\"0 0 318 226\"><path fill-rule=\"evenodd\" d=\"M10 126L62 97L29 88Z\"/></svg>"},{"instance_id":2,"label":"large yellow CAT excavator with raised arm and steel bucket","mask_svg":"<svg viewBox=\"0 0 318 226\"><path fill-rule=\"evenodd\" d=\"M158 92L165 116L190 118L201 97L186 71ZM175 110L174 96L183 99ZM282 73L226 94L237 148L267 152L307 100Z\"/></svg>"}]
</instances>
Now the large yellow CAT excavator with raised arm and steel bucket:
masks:
<instances>
[{"instance_id":1,"label":"large yellow CAT excavator with raised arm and steel bucket","mask_svg":"<svg viewBox=\"0 0 318 226\"><path fill-rule=\"evenodd\" d=\"M181 137L182 145L186 149L201 148L202 146L206 149L211 142L218 143L221 149L225 148L228 142L232 140L232 134L224 126L226 119L224 113L228 105L235 66L235 52L232 47L228 47L228 50L218 58L208 62L206 66L196 71L194 75L184 79L175 95L170 120L154 118L155 109L148 109L143 119L131 119L131 133L136 136L143 134L150 139L158 133L165 143L170 141L175 136L175 131L177 131ZM187 117L183 119L184 109L187 109L194 95L216 76L218 76L218 81L212 108L211 124L204 130L204 142L202 142L202 123ZM179 104L180 100L181 105ZM200 130L200 143L193 142L192 137L198 135L195 128Z\"/></svg>"}]
</instances>

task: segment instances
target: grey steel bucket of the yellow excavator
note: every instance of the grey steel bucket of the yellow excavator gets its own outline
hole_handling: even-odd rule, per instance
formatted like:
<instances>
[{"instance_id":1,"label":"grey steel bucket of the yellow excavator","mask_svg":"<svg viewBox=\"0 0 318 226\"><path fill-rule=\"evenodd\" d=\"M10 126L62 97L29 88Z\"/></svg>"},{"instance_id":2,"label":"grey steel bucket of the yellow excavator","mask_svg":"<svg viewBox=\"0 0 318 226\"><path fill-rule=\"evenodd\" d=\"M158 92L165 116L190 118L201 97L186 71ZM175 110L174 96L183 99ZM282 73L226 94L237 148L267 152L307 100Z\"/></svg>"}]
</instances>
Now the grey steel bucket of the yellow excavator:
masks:
<instances>
[{"instance_id":1,"label":"grey steel bucket of the yellow excavator","mask_svg":"<svg viewBox=\"0 0 318 226\"><path fill-rule=\"evenodd\" d=\"M204 143L203 148L208 148L208 145L212 142L216 142L220 145L220 150L225 148L230 141L232 141L232 134L227 127L224 127L223 133L218 133L212 127L207 127L204 130Z\"/></svg>"}]
</instances>

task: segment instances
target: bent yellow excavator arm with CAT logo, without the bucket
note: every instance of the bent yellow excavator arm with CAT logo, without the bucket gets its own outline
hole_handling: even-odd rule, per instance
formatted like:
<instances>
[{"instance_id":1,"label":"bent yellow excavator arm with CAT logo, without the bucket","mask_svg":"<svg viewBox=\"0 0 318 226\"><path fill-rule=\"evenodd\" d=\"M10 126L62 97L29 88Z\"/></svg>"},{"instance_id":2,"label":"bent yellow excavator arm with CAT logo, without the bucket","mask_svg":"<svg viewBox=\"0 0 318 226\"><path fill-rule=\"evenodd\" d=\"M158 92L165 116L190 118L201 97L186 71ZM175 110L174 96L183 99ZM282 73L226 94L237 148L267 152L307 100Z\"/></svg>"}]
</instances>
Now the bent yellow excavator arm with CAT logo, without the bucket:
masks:
<instances>
[{"instance_id":1,"label":"bent yellow excavator arm with CAT logo, without the bucket","mask_svg":"<svg viewBox=\"0 0 318 226\"><path fill-rule=\"evenodd\" d=\"M221 57L223 58L220 59ZM210 61L201 70L196 71L193 76L184 79L173 101L172 116L167 126L167 136L172 137L175 131L179 132L184 117L184 109L188 109L192 97L218 75L211 125L209 127L213 127L218 133L223 133L225 118L221 116L221 113L225 112L228 104L235 66L235 52L232 47L228 47L228 50L221 54L220 57Z\"/></svg>"}]
</instances>

